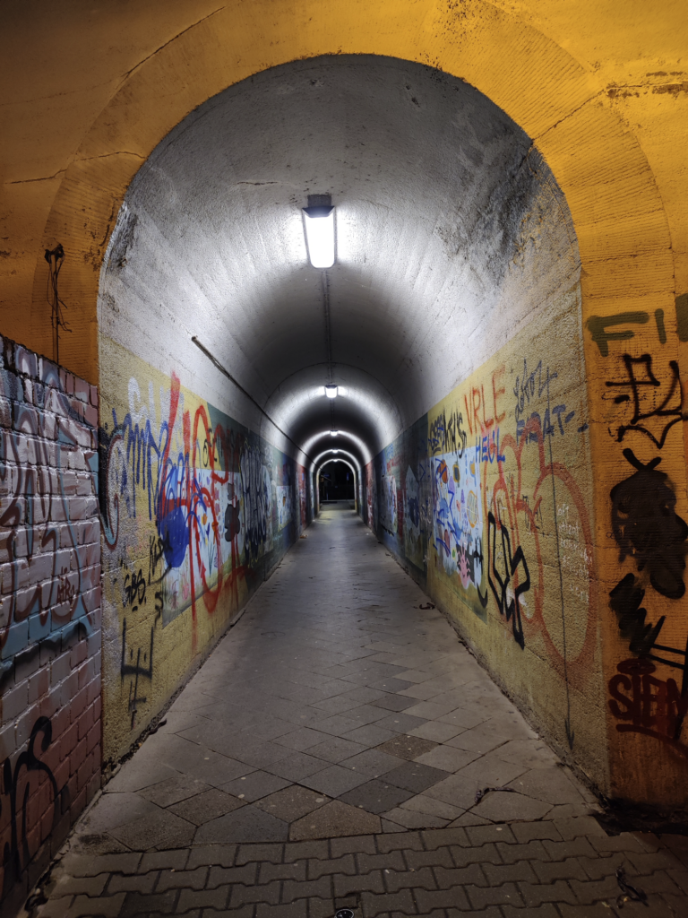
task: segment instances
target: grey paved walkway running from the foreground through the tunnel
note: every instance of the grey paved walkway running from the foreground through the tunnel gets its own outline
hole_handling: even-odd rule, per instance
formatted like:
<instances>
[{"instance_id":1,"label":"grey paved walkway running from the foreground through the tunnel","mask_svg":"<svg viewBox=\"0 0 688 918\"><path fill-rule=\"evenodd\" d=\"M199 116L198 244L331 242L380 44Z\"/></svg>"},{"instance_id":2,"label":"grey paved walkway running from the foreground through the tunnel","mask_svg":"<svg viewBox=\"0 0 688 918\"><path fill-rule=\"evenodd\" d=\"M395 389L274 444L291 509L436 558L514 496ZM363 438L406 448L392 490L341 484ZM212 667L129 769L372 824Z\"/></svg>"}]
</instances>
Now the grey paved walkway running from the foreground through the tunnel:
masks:
<instances>
[{"instance_id":1,"label":"grey paved walkway running from the foreground through the tunnel","mask_svg":"<svg viewBox=\"0 0 688 918\"><path fill-rule=\"evenodd\" d=\"M361 521L327 509L307 535L77 824L32 916L688 913L688 839L608 836Z\"/></svg>"}]
</instances>

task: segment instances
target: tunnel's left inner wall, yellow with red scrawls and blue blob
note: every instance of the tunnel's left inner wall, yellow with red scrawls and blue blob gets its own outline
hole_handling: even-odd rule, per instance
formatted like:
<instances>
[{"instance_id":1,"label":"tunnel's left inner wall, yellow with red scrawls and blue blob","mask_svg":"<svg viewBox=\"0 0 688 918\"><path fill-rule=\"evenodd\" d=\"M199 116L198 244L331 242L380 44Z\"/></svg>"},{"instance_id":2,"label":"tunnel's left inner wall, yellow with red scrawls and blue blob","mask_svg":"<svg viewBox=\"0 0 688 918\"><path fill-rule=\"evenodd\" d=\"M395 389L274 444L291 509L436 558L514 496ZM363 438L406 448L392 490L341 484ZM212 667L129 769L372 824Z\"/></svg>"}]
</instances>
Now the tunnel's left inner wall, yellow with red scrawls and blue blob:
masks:
<instances>
[{"instance_id":1,"label":"tunnel's left inner wall, yellow with red scrawls and blue blob","mask_svg":"<svg viewBox=\"0 0 688 918\"><path fill-rule=\"evenodd\" d=\"M104 760L200 663L310 521L305 468L101 339Z\"/></svg>"}]
</instances>

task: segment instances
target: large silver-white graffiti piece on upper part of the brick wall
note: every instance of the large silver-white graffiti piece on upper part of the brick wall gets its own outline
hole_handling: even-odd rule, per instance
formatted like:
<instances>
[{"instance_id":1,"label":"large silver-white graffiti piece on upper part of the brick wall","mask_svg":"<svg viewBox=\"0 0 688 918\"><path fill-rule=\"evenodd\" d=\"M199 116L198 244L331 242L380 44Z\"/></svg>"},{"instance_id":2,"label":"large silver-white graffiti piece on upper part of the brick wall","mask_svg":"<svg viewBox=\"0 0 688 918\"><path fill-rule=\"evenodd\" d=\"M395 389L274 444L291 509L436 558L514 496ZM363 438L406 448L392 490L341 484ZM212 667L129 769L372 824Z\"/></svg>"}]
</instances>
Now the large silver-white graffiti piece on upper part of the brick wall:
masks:
<instances>
[{"instance_id":1,"label":"large silver-white graffiti piece on upper part of the brick wall","mask_svg":"<svg viewBox=\"0 0 688 918\"><path fill-rule=\"evenodd\" d=\"M23 348L17 351L36 362ZM41 382L27 382L31 402L16 375L4 371L0 380L15 431L3 438L0 469L4 661L31 648L38 653L40 638L72 620L83 621L90 633L93 606L84 596L100 579L92 431L83 426L81 403L61 391L57 367L46 364Z\"/></svg>"}]
</instances>

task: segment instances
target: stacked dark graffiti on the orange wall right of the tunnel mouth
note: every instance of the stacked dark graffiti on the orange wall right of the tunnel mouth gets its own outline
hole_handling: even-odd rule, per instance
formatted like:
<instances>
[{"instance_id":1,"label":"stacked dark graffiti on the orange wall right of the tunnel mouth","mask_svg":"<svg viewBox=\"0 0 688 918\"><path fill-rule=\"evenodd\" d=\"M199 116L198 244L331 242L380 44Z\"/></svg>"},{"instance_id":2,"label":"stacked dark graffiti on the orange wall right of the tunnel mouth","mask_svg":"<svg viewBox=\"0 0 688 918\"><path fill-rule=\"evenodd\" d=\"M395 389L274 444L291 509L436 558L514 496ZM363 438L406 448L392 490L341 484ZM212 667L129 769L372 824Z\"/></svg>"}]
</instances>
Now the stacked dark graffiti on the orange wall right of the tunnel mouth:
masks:
<instances>
[{"instance_id":1,"label":"stacked dark graffiti on the orange wall right of the tunnel mouth","mask_svg":"<svg viewBox=\"0 0 688 918\"><path fill-rule=\"evenodd\" d=\"M651 351L648 329L638 326L654 326ZM682 737L688 710L688 628L680 601L688 523L678 512L671 475L676 468L672 431L682 436L681 422L687 417L679 364L667 344L662 309L655 310L654 323L647 312L624 312L594 316L587 328L608 364L602 399L607 431L619 444L624 469L609 493L608 536L618 549L620 576L608 603L624 658L608 682L608 710L617 733L649 736L688 757ZM616 346L616 341L633 340L642 353L631 353L627 344Z\"/></svg>"}]
</instances>

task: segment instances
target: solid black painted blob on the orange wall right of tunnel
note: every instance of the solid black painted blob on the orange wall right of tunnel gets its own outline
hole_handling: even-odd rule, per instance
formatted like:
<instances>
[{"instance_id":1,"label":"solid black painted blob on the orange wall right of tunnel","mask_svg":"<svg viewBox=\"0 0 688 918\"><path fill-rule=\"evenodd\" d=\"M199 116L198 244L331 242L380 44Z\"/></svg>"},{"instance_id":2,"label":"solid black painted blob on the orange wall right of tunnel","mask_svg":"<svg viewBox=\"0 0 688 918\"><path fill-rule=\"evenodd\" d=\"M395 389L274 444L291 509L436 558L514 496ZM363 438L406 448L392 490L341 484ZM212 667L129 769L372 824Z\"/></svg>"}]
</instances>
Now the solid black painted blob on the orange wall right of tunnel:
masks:
<instances>
[{"instance_id":1,"label":"solid black painted blob on the orange wall right of tunnel","mask_svg":"<svg viewBox=\"0 0 688 918\"><path fill-rule=\"evenodd\" d=\"M636 472L613 487L610 495L619 562L634 558L638 573L647 570L658 593L681 599L688 524L676 513L676 495L668 476L657 469L661 457L647 465L629 449L624 450L624 457Z\"/></svg>"}]
</instances>

